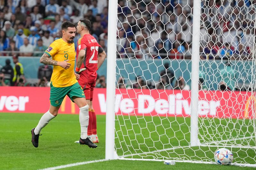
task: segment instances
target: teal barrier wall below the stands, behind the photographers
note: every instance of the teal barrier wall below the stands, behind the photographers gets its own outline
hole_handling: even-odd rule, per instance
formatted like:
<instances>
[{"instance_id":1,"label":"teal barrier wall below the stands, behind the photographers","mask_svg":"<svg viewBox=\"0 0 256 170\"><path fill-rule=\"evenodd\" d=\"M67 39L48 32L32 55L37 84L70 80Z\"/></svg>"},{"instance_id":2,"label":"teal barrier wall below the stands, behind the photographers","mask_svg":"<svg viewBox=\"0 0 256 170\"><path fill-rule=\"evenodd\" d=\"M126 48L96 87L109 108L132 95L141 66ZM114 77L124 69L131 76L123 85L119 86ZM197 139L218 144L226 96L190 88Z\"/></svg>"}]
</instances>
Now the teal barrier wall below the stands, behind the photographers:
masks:
<instances>
[{"instance_id":1,"label":"teal barrier wall below the stands, behind the photographers","mask_svg":"<svg viewBox=\"0 0 256 170\"><path fill-rule=\"evenodd\" d=\"M0 56L0 65L5 65L5 60L11 57ZM42 65L40 57L19 57L20 63L23 64L24 74L27 79L37 79L38 67ZM220 70L224 68L227 61L223 60L204 60L200 62L199 70L200 77L204 78L205 86L210 90L217 90L218 84L221 81ZM125 83L130 80L135 81L137 76L146 81L158 82L160 80L159 73L164 70L164 63L169 63L170 69L174 71L174 76L178 79L182 76L185 82L191 85L191 60L169 60L169 59L120 59L116 60L116 80L122 75ZM252 61L232 61L232 68L236 70L236 87L241 85L249 85L252 80ZM13 64L13 63L12 63ZM107 77L107 59L104 61L100 69L97 71L98 75ZM209 74L211 73L211 74ZM172 84L175 84L173 81Z\"/></svg>"}]
</instances>

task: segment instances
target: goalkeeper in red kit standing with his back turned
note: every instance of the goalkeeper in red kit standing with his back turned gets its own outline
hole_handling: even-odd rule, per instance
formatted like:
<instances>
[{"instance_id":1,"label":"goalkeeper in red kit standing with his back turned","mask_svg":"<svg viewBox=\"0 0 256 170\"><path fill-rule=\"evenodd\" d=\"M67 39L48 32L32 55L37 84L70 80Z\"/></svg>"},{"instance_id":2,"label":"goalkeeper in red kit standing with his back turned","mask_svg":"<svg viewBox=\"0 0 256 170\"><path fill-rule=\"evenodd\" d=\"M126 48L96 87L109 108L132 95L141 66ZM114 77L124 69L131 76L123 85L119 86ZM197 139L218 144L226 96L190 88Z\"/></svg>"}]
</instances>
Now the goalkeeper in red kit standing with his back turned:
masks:
<instances>
[{"instance_id":1,"label":"goalkeeper in red kit standing with his back turned","mask_svg":"<svg viewBox=\"0 0 256 170\"><path fill-rule=\"evenodd\" d=\"M99 143L97 136L96 114L92 107L93 89L95 87L97 70L106 58L106 53L97 40L89 33L92 24L88 19L80 19L76 29L81 38L77 42L76 49L76 73L80 74L79 85L84 90L86 102L89 104L88 137L93 143Z\"/></svg>"}]
</instances>

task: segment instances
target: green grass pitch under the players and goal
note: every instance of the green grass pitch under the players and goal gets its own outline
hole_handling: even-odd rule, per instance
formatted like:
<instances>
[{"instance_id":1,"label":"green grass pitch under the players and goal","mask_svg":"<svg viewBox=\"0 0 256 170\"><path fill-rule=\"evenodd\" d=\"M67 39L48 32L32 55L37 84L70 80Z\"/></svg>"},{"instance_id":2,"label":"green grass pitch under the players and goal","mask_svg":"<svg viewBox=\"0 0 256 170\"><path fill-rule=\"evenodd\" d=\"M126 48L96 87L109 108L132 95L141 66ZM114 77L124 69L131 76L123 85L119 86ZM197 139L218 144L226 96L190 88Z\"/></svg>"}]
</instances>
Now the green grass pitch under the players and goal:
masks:
<instances>
[{"instance_id":1,"label":"green grass pitch under the players and goal","mask_svg":"<svg viewBox=\"0 0 256 170\"><path fill-rule=\"evenodd\" d=\"M91 160L99 160L105 158L105 115L97 116L97 125L98 125L98 136L100 143L96 149L91 149L87 146L83 146L80 144L75 144L74 141L78 140L80 137L80 125L79 125L79 117L78 115L58 115L55 119L53 119L41 132L42 136L39 137L39 147L35 148L31 144L31 132L30 130L36 126L42 114L18 114L18 113L0 113L0 169L42 169L53 166L66 165L77 162L91 161ZM130 122L128 121L130 119ZM142 136L140 135L140 131L138 131L138 127L136 128L136 123L134 123L137 119L135 117L119 117L119 122L116 124L117 134L119 136L119 141L116 138L116 146L118 155L127 155L127 154L135 154L138 151L128 148L131 147L130 144L134 145L136 148L138 143L135 141L142 142ZM164 142L168 138L171 138L173 134L176 135L176 138L171 138L170 142L173 146L177 145L179 139L183 138L181 145L186 145L187 140L189 138L188 129L186 126L182 128L184 123L182 120L177 119L172 121L173 118L170 118L170 122L172 128L169 128L170 136L164 137L163 129L168 129L170 126L169 121L165 119L154 118L151 119L147 117L145 119L139 119L139 123L142 129L149 129L148 131L143 131L141 134L147 139L150 136L154 142L150 140L145 140L146 145L140 145L140 149L142 151L153 151L153 149L163 149L162 144L158 144L157 134L155 130L157 129L158 138L161 138L161 141ZM123 120L123 121L122 121ZM134 122L133 122L134 121ZM163 124L163 126L155 126L159 124L159 121ZM164 122L166 121L166 122ZM184 122L188 121L185 120ZM126 127L119 126L123 125L126 122ZM179 122L175 124L175 122ZM153 126L153 123L155 125ZM207 124L207 122L205 122ZM189 124L189 123L188 123ZM151 125L151 126L150 126ZM133 126L133 128L132 128ZM178 126L178 127L177 127ZM235 125L234 125L235 126ZM179 127L182 129L179 131ZM119 128L119 129L118 129ZM124 134L120 135L120 129L124 132ZM155 128L155 129L154 129ZM236 127L235 127L236 128ZM250 127L249 127L250 128ZM134 129L134 130L131 130ZM250 130L250 129L249 129ZM246 130L248 131L248 130ZM204 133L204 129L202 129L202 133ZM233 133L233 132L232 132ZM127 135L129 134L130 139L127 139ZM246 134L245 134L246 135ZM211 135L208 136L211 138ZM136 139L136 140L134 140ZM120 142L121 141L121 142ZM126 141L128 147L124 145ZM143 144L143 142L141 143ZM155 145L154 145L155 144ZM167 146L165 146L167 147ZM148 149L149 148L149 149ZM213 150L216 148L212 148ZM209 150L209 148L207 149ZM176 155L175 155L176 153ZM185 150L175 150L174 152L161 152L160 154L163 156L172 156L172 157L186 157L195 155L194 150L187 149ZM196 152L198 157L206 154L207 157L211 157L210 152ZM212 153L211 153L212 154ZM246 150L241 153L241 155L250 155L250 157L255 158L255 150ZM253 155L254 154L254 155ZM157 153L152 154L149 159L154 158ZM183 155L183 156L182 156ZM185 156L184 156L185 155ZM133 158L142 158L145 155L135 155ZM129 158L129 157L127 157ZM145 158L145 157L144 157ZM213 155L212 155L213 158ZM247 158L246 158L247 160ZM239 161L239 160L236 160ZM248 163L255 163L255 160L250 160L248 158ZM127 161L127 160L111 160L104 161L98 163L91 163L87 165L80 165L69 167L66 169L251 169L248 167L239 167L239 166L218 166L218 165L207 165L207 164L192 164L192 163L176 163L176 165L164 165L163 162L155 162L155 161Z\"/></svg>"}]
</instances>

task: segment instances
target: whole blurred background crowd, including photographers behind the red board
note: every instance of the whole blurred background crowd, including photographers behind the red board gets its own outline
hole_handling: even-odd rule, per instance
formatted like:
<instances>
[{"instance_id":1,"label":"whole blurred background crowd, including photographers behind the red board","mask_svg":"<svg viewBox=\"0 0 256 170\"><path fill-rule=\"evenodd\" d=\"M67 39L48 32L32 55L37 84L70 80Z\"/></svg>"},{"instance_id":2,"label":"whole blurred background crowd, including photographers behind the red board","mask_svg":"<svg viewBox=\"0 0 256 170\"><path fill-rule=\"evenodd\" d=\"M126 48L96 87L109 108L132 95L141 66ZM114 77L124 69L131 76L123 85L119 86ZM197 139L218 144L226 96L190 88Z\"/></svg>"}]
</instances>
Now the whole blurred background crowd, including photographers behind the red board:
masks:
<instances>
[{"instance_id":1,"label":"whole blurred background crowd, including photographers behind the red board","mask_svg":"<svg viewBox=\"0 0 256 170\"><path fill-rule=\"evenodd\" d=\"M255 7L256 0L201 0L200 58L251 59ZM76 24L80 18L92 22L91 34L107 52L108 0L0 0L0 55L13 56L14 60L18 56L41 56L61 37L63 21ZM191 59L192 23L193 0L118 0L117 57ZM79 38L76 35L75 46ZM13 71L14 77L20 74L25 81L19 68ZM40 66L36 85L47 85L51 71L51 66ZM166 88L167 84L169 88L189 89L182 77L175 82L172 77L165 80L161 76L159 85L151 85L140 82L137 76L133 86ZM10 78L6 85L18 85L18 79L13 82ZM118 81L118 88L125 85L122 78ZM100 76L97 82L99 87L106 85L105 77Z\"/></svg>"}]
</instances>

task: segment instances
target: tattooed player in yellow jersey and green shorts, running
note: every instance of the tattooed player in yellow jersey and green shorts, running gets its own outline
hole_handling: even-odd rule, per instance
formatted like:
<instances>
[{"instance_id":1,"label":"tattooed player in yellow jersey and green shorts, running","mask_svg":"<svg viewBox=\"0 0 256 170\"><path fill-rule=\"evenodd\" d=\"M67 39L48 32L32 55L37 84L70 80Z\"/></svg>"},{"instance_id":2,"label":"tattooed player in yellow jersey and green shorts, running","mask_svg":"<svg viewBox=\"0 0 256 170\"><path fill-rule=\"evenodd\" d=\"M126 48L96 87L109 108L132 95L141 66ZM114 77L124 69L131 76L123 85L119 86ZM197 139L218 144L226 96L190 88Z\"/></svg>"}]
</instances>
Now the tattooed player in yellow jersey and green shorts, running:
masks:
<instances>
[{"instance_id":1,"label":"tattooed player in yellow jersey and green shorts, running","mask_svg":"<svg viewBox=\"0 0 256 170\"><path fill-rule=\"evenodd\" d=\"M50 109L41 117L36 128L31 130L31 141L37 148L40 131L57 116L61 102L68 95L80 109L79 122L81 125L81 136L79 143L96 148L97 145L93 144L87 137L89 107L85 100L84 91L77 82L80 76L74 72L76 51L73 40L75 38L76 28L72 22L65 21L62 23L61 29L62 38L52 42L40 59L40 63L53 65L50 85Z\"/></svg>"}]
</instances>

